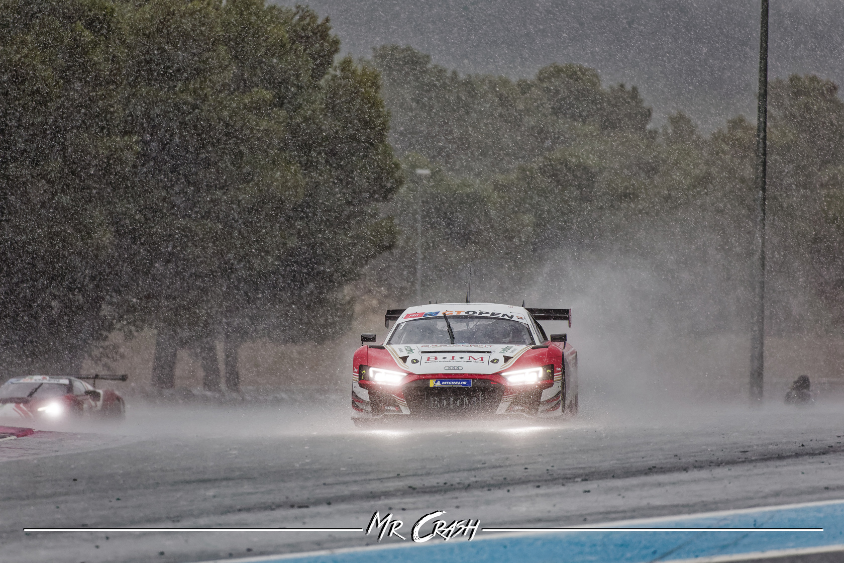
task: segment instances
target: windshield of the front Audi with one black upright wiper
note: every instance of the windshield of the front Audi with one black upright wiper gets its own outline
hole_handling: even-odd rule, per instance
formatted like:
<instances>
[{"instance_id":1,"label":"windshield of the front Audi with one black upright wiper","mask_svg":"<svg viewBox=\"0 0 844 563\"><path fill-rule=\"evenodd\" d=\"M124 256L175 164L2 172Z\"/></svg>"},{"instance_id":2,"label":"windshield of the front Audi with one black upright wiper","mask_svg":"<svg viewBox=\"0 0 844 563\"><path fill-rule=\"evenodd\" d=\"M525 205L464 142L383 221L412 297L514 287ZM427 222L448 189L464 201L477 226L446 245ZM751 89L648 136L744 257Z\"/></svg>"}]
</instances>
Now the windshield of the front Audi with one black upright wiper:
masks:
<instances>
[{"instance_id":1,"label":"windshield of the front Audi with one black upright wiper","mask_svg":"<svg viewBox=\"0 0 844 563\"><path fill-rule=\"evenodd\" d=\"M454 344L533 344L527 325L510 319L449 315ZM387 344L451 344L443 317L399 323Z\"/></svg>"}]
</instances>

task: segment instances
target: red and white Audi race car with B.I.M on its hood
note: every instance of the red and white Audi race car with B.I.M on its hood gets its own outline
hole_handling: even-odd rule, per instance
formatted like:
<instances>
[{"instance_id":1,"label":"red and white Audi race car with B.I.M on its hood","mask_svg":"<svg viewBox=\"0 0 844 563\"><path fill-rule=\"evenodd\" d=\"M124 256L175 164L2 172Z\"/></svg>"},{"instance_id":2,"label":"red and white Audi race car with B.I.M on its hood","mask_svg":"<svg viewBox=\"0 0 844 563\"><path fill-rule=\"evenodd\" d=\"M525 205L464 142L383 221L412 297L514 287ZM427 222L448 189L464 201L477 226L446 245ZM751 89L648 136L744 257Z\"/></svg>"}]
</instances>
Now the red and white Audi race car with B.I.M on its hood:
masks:
<instances>
[{"instance_id":1,"label":"red and white Audi race car with B.I.M on its hood","mask_svg":"<svg viewBox=\"0 0 844 563\"><path fill-rule=\"evenodd\" d=\"M407 416L560 417L577 411L577 353L537 321L569 309L440 303L387 311L384 344L362 334L352 420ZM393 419L395 420L395 419Z\"/></svg>"}]
</instances>

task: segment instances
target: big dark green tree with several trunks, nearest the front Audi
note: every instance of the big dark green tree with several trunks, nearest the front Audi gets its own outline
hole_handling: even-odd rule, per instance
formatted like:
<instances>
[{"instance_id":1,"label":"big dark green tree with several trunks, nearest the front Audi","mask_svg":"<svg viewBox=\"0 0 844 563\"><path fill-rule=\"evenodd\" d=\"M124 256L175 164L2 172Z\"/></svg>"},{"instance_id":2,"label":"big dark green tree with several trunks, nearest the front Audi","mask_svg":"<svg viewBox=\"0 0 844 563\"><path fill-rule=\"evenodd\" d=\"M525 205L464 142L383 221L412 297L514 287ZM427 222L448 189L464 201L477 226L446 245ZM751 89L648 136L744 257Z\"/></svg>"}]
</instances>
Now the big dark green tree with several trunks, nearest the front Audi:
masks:
<instances>
[{"instance_id":1,"label":"big dark green tree with several trunks, nearest the front Audi","mask_svg":"<svg viewBox=\"0 0 844 563\"><path fill-rule=\"evenodd\" d=\"M341 288L392 245L373 207L399 178L378 76L332 67L338 41L307 8L152 0L129 29L139 154L121 238L138 268L124 309L157 329L156 385L197 346L219 388L223 334L236 388L243 339L342 328Z\"/></svg>"}]
</instances>

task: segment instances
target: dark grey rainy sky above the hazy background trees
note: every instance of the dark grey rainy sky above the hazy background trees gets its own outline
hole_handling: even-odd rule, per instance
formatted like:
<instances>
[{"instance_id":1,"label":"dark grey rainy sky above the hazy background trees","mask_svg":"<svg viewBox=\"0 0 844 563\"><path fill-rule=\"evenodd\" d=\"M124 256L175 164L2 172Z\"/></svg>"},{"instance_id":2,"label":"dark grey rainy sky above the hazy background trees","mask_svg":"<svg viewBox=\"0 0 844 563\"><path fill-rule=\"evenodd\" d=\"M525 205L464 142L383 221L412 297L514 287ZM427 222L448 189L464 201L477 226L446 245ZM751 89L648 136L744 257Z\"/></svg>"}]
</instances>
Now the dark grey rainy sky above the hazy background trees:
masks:
<instances>
[{"instance_id":1,"label":"dark grey rainy sky above the hazy background trees","mask_svg":"<svg viewBox=\"0 0 844 563\"><path fill-rule=\"evenodd\" d=\"M290 3L292 2L284 2ZM636 84L661 116L705 129L755 121L759 0L314 0L343 49L410 45L461 73L528 77L582 62L605 83ZM844 80L844 0L771 0L771 77Z\"/></svg>"}]
</instances>

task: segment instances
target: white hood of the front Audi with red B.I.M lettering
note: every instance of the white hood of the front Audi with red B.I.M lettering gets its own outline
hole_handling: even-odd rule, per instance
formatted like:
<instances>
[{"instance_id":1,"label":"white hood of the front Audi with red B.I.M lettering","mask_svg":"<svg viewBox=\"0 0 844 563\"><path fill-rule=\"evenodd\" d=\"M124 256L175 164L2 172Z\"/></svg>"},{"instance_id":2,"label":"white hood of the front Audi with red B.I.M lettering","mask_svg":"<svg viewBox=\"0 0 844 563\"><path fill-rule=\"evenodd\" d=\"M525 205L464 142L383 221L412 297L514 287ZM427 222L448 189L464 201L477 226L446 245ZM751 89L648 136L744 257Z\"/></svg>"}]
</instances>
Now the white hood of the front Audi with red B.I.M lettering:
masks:
<instances>
[{"instance_id":1,"label":"white hood of the front Audi with red B.I.M lettering","mask_svg":"<svg viewBox=\"0 0 844 563\"><path fill-rule=\"evenodd\" d=\"M477 373L490 375L510 367L531 344L387 344L398 365L417 375Z\"/></svg>"}]
</instances>

